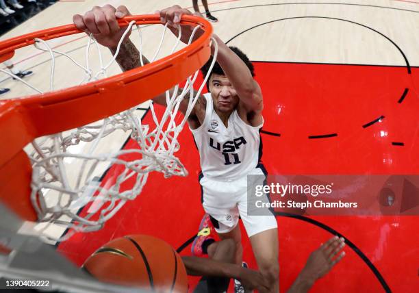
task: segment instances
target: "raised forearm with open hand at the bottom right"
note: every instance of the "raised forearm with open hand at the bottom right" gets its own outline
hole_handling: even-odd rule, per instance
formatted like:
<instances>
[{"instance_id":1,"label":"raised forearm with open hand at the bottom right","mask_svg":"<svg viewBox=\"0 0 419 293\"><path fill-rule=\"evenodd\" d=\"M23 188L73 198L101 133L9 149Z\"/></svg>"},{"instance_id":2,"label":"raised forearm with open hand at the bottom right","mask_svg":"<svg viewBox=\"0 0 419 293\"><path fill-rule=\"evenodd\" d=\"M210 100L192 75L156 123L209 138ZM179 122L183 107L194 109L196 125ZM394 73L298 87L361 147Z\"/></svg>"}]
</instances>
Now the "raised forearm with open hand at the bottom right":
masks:
<instances>
[{"instance_id":1,"label":"raised forearm with open hand at the bottom right","mask_svg":"<svg viewBox=\"0 0 419 293\"><path fill-rule=\"evenodd\" d=\"M287 292L309 292L309 289L312 288L314 282L327 275L333 266L338 264L340 259L344 257L345 253L342 251L344 245L343 238L333 237L325 244L322 244L319 249L313 251L307 259L303 270L301 270Z\"/></svg>"}]
</instances>

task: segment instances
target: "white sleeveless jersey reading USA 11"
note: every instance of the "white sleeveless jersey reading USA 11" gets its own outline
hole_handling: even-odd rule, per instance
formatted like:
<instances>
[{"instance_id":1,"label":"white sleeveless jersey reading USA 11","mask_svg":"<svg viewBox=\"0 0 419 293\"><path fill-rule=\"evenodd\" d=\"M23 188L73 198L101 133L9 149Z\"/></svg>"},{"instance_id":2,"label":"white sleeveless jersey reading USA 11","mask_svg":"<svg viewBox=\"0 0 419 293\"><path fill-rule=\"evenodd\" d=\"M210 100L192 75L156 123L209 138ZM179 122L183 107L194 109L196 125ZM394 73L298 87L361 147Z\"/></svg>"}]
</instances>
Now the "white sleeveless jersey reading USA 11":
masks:
<instances>
[{"instance_id":1,"label":"white sleeveless jersey reading USA 11","mask_svg":"<svg viewBox=\"0 0 419 293\"><path fill-rule=\"evenodd\" d=\"M199 151L202 173L216 180L231 180L246 176L254 170L262 156L259 129L244 123L234 110L228 127L214 110L210 93L203 94L207 109L203 123L190 129Z\"/></svg>"}]
</instances>

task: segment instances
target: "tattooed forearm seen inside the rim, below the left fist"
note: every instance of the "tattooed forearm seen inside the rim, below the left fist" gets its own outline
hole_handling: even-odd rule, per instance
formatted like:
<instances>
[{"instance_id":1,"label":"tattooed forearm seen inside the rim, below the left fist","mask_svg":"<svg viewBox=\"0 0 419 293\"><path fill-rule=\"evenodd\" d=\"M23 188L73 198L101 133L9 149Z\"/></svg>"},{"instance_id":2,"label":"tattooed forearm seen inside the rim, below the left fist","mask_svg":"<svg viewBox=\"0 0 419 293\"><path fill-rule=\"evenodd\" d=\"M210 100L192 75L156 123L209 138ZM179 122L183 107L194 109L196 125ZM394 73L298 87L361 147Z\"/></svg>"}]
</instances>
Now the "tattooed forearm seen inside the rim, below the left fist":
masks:
<instances>
[{"instance_id":1,"label":"tattooed forearm seen inside the rim, below the left fist","mask_svg":"<svg viewBox=\"0 0 419 293\"><path fill-rule=\"evenodd\" d=\"M116 53L116 48L110 48L112 55ZM149 60L142 56L142 61L145 64L149 64ZM131 69L141 66L140 52L138 52L136 46L127 39L120 44L118 56L116 56L116 62L118 62L120 68L123 71L129 71Z\"/></svg>"}]
</instances>

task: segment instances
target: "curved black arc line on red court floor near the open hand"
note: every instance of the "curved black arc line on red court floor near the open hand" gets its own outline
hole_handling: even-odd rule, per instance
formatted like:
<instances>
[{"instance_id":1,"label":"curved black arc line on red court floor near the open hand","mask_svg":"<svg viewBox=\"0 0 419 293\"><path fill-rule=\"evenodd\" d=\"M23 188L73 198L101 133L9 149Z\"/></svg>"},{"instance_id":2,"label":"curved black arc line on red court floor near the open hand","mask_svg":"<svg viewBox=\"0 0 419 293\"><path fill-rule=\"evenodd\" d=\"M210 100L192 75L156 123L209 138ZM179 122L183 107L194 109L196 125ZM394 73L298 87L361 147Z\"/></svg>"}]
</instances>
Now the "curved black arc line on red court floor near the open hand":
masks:
<instances>
[{"instance_id":1,"label":"curved black arc line on red court floor near the open hand","mask_svg":"<svg viewBox=\"0 0 419 293\"><path fill-rule=\"evenodd\" d=\"M321 229L324 229L325 231L331 233L332 235L337 235L338 237L344 238L346 246L350 247L362 259L362 261L364 261L364 263L368 266L368 268L370 268L374 276L377 277L378 281L380 282L385 292L388 292L388 293L392 292L392 290L390 290L388 283L385 281L385 279L383 278L379 270L374 266L374 264L372 264L370 259L368 259L368 257L361 251L361 249L359 249L353 242L351 242L351 240L348 240L348 238L346 238L342 233L339 233L335 229L323 224L322 222L319 222L318 220L307 218L305 216L300 216L297 214L290 214L290 213L283 213L283 212L276 212L275 216L283 216L283 217L288 217L288 218L295 218L297 220L302 220L304 222L308 222L309 224L315 225ZM181 251L183 251L183 249L185 249L186 246L188 246L194 240L195 237L196 235L192 236L192 238L190 238L181 246L179 246L179 249L177 249L177 253L181 253Z\"/></svg>"}]
</instances>

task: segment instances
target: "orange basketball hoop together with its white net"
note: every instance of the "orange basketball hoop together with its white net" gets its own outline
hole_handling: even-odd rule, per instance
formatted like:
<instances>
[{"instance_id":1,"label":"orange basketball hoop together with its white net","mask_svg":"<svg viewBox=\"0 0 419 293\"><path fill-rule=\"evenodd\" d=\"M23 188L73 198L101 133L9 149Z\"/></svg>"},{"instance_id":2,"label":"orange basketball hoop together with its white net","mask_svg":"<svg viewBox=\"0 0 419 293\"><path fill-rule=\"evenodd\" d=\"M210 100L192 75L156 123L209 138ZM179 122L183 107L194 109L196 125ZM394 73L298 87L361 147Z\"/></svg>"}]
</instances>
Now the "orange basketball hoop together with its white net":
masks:
<instances>
[{"instance_id":1,"label":"orange basketball hoop together with its white net","mask_svg":"<svg viewBox=\"0 0 419 293\"><path fill-rule=\"evenodd\" d=\"M75 65L84 70L86 76L81 84L62 90L54 90L53 86L54 56L66 54L54 51L46 41L80 33L75 25L36 31L0 42L0 61L11 58L16 49L31 44L52 56L50 92L42 92L23 81L37 94L0 101L0 199L25 220L66 225L73 233L97 230L124 203L136 198L147 181L149 172L157 170L164 173L165 177L188 174L175 157L180 147L177 136L208 78L207 75L199 89L194 90L199 68L210 58L212 27L203 18L184 15L181 25L194 27L186 47L176 50L181 38L179 26L179 36L170 55L155 60L162 47L166 24L162 41L150 64L99 79L106 76L107 68L115 61L120 44L131 27L136 25L138 29L142 56L139 25L161 23L160 16L142 15L125 17L119 24L120 27L127 27L127 30L112 60L106 65L99 51L101 69L98 73L93 74L89 66L82 66L67 55ZM199 28L203 30L203 34L192 42ZM91 42L98 47L90 36L88 48ZM212 43L215 49L212 62L214 65L216 42ZM88 59L88 53L86 56ZM88 64L88 60L86 63ZM179 83L183 81L185 86L181 89ZM162 117L157 117L151 103L155 127L142 125L141 117L136 115L136 106L165 91L167 107ZM190 96L188 110L181 123L176 123L175 116L180 102L187 94ZM116 98L118 96L121 98ZM138 149L95 153L101 139L114 131L130 133L131 139L137 142ZM86 153L69 151L81 142L89 144ZM23 148L29 143L33 148L27 154ZM127 160L127 155L134 159ZM73 181L68 179L66 160L79 160L79 173ZM103 163L118 165L120 175L112 182L93 182L95 168ZM132 180L134 183L129 188L121 188ZM52 205L46 194L49 197L55 194ZM99 207L92 207L92 203L98 201ZM86 205L90 205L89 212L80 216L79 209ZM63 215L66 216L64 220ZM71 234L67 233L64 239Z\"/></svg>"}]
</instances>

